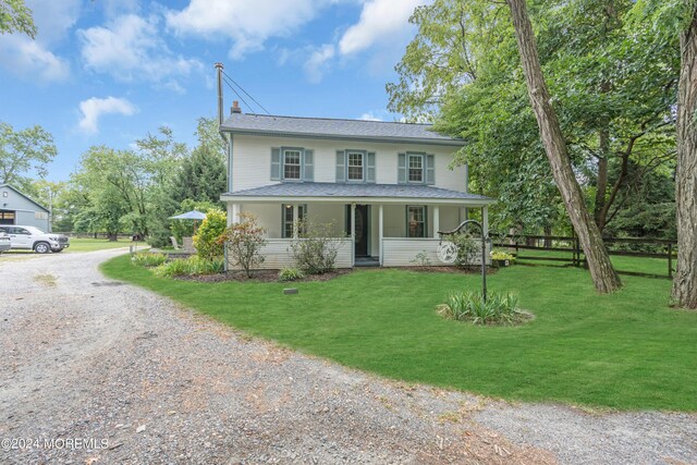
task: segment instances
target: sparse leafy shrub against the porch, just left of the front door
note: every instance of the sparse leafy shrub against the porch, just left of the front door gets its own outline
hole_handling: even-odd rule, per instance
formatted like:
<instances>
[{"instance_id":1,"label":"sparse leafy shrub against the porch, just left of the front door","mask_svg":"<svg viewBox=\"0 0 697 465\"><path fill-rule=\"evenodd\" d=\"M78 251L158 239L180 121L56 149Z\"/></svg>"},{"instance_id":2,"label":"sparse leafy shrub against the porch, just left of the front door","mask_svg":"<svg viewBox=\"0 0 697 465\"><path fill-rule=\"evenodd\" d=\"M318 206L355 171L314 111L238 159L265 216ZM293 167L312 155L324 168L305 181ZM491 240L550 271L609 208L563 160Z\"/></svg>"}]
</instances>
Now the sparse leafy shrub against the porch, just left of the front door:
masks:
<instances>
[{"instance_id":1,"label":"sparse leafy shrub against the porch, just left of the front door","mask_svg":"<svg viewBox=\"0 0 697 465\"><path fill-rule=\"evenodd\" d=\"M339 252L334 223L314 223L304 220L297 228L301 232L299 238L291 244L296 267L307 274L323 274L332 271Z\"/></svg>"}]
</instances>

